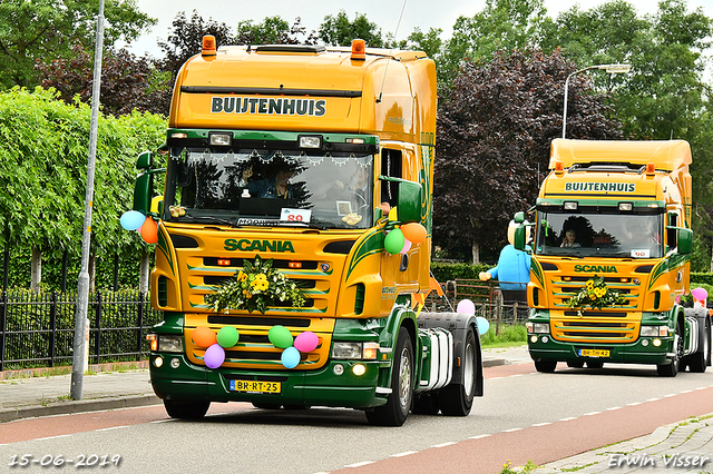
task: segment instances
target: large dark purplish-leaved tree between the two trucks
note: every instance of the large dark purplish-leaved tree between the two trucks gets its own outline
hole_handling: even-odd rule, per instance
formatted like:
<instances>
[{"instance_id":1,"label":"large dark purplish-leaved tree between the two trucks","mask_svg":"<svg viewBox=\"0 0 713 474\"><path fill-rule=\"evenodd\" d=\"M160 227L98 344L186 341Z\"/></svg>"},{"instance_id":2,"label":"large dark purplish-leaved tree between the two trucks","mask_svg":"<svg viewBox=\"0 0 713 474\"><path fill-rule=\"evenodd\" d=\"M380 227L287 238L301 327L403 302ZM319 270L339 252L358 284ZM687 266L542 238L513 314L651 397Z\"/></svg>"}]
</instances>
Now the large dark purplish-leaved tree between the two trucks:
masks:
<instances>
[{"instance_id":1,"label":"large dark purplish-leaved tree between the two trucks","mask_svg":"<svg viewBox=\"0 0 713 474\"><path fill-rule=\"evenodd\" d=\"M549 144L561 135L564 82L574 70L559 51L545 56L535 48L497 52L489 63L462 63L439 107L437 245L469 248L479 263L481 247L495 251L507 243L508 221L533 205L547 172ZM587 76L576 77L569 89L570 137L621 138L621 126L606 118L607 99L593 92Z\"/></svg>"}]
</instances>

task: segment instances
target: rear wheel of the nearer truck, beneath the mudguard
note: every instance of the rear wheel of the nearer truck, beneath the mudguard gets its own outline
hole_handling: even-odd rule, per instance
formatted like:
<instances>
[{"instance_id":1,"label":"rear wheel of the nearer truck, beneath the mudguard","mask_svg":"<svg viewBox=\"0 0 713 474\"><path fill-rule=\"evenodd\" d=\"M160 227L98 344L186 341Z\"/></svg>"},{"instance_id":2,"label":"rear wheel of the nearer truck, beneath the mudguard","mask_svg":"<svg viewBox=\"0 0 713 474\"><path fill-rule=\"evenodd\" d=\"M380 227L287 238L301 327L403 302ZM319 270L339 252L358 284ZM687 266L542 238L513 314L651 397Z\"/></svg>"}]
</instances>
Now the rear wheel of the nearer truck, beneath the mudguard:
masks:
<instances>
[{"instance_id":1,"label":"rear wheel of the nearer truck, beneath the mudguard","mask_svg":"<svg viewBox=\"0 0 713 474\"><path fill-rule=\"evenodd\" d=\"M476 396L476 379L478 377L478 346L472 329L466 336L463 349L463 372L460 384L443 387L439 394L441 413L447 416L468 416Z\"/></svg>"}]
</instances>

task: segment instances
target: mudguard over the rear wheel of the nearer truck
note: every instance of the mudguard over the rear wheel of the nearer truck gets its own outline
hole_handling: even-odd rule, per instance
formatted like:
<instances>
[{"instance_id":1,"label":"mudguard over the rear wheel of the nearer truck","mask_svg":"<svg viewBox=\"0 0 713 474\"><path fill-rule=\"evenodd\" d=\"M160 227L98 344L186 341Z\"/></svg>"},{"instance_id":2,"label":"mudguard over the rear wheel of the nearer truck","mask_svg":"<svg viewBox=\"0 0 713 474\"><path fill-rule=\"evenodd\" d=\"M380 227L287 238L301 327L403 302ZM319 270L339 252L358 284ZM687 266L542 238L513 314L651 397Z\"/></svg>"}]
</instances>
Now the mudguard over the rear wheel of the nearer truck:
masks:
<instances>
[{"instance_id":1,"label":"mudguard over the rear wheel of the nearer truck","mask_svg":"<svg viewBox=\"0 0 713 474\"><path fill-rule=\"evenodd\" d=\"M476 333L476 345L478 350L478 362L476 364L476 396L482 396L482 354L480 352L480 335L478 334L478 324L476 316L462 313L427 313L421 312L418 317L419 328L432 329L443 328L453 335L453 375L451 384L462 383L462 364L459 362L463 358L466 349L466 336L468 330L472 328Z\"/></svg>"}]
</instances>

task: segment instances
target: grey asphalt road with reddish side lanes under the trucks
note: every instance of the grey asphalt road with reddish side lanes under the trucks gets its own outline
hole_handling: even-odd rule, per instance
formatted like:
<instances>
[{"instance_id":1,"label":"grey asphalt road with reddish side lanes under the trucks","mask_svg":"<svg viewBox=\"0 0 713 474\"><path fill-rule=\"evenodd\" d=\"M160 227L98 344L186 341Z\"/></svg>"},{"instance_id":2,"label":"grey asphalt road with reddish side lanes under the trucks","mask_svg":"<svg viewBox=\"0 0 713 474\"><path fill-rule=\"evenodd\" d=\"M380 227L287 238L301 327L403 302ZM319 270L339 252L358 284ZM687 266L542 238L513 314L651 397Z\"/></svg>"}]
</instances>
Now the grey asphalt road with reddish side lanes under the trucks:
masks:
<instances>
[{"instance_id":1,"label":"grey asphalt road with reddish side lanes under the trucks","mask_svg":"<svg viewBox=\"0 0 713 474\"><path fill-rule=\"evenodd\" d=\"M544 464L713 413L713 371L662 378L648 366L560 364L539 374L530 363L486 377L470 416L411 415L400 428L370 426L351 409L247 404L214 404L201 422L168 419L163 407L20 419L0 425L0 466L30 455L8 472L487 474L508 460ZM62 466L41 466L58 458ZM94 466L77 466L82 460Z\"/></svg>"}]
</instances>

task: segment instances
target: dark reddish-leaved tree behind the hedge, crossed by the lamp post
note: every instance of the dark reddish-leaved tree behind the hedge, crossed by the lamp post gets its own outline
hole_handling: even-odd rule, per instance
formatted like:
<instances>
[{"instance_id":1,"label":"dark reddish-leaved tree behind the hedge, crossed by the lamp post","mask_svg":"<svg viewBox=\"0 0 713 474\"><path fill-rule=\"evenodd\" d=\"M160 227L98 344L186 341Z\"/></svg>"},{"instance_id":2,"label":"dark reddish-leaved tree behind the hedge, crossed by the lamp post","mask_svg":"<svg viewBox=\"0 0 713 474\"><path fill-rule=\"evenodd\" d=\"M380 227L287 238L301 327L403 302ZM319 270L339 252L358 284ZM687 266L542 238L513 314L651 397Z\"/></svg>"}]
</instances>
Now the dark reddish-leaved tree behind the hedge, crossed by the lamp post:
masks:
<instances>
[{"instance_id":1,"label":"dark reddish-leaved tree behind the hedge, crossed by the lamp post","mask_svg":"<svg viewBox=\"0 0 713 474\"><path fill-rule=\"evenodd\" d=\"M69 59L39 62L40 86L53 88L71 103L75 96L90 102L94 75L92 53L75 45ZM133 110L168 116L173 78L156 69L146 57L137 58L126 49L107 49L101 61L101 109L114 116Z\"/></svg>"}]
</instances>

